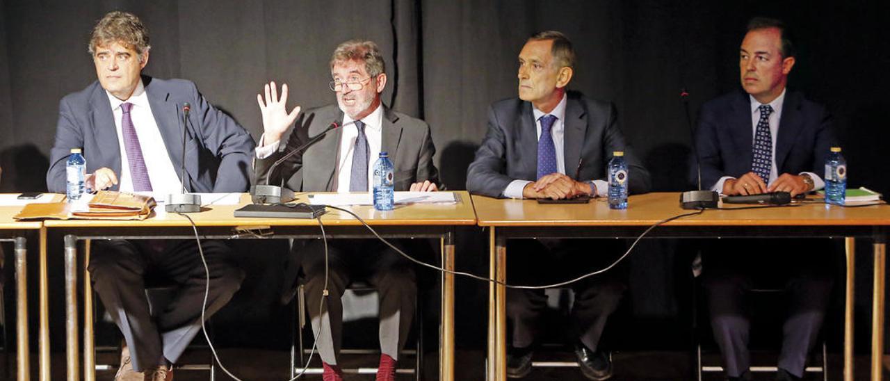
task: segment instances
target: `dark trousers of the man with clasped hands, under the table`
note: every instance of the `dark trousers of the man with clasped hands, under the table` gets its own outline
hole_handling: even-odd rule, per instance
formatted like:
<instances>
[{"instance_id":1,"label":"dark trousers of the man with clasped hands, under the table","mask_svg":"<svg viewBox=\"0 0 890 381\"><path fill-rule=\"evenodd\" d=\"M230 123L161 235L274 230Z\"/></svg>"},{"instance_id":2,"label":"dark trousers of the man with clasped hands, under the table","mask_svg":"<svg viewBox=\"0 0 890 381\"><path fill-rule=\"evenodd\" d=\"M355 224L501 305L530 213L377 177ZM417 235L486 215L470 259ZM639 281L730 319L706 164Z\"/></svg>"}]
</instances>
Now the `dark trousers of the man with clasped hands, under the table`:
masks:
<instances>
[{"instance_id":1,"label":"dark trousers of the man with clasped hands, under the table","mask_svg":"<svg viewBox=\"0 0 890 381\"><path fill-rule=\"evenodd\" d=\"M603 269L623 253L624 242L616 239L511 239L507 241L506 281L535 286L570 280ZM627 289L627 267L616 266L570 288L575 292L571 333L596 351L606 320ZM514 347L537 344L546 300L543 289L507 288L506 316L513 325Z\"/></svg>"}]
</instances>

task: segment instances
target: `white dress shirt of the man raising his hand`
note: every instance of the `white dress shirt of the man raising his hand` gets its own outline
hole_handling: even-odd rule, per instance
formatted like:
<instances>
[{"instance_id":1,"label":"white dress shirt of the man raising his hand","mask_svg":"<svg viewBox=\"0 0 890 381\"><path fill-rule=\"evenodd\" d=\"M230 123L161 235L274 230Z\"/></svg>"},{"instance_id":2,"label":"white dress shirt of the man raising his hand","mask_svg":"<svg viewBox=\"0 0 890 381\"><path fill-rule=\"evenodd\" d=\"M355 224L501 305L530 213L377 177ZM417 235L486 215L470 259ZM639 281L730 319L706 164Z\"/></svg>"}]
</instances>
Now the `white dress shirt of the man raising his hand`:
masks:
<instances>
[{"instance_id":1,"label":"white dress shirt of the man raising his hand","mask_svg":"<svg viewBox=\"0 0 890 381\"><path fill-rule=\"evenodd\" d=\"M365 124L365 138L368 140L368 190L374 184L374 163L380 156L383 146L384 111L383 103L377 105L367 117L361 121ZM354 119L348 115L343 117L343 131L340 135L340 149L337 150L336 168L334 170L334 190L341 193L349 192L349 181L352 177L352 150L355 149L355 139L359 137L359 127L355 126ZM256 147L256 158L268 158L279 149L280 142L265 144L265 134L260 137L260 143ZM392 152L390 152L392 153ZM391 158L392 160L392 158Z\"/></svg>"}]
</instances>

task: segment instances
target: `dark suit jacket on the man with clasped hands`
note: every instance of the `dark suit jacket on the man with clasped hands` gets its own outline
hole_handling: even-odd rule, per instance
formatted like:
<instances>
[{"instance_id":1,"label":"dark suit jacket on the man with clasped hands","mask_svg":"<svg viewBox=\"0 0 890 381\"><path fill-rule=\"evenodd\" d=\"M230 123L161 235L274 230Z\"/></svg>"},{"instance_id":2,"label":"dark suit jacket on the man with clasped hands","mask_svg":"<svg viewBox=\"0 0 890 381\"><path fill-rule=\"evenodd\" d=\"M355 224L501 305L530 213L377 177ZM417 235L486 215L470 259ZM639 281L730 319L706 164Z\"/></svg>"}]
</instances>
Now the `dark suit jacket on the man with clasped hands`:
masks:
<instances>
[{"instance_id":1,"label":"dark suit jacket on the man with clasped hands","mask_svg":"<svg viewBox=\"0 0 890 381\"><path fill-rule=\"evenodd\" d=\"M565 107L564 157L566 174L575 176L582 159L578 181L608 181L606 166L612 152L623 150L630 177L630 192L651 188L649 171L634 155L618 127L615 106L569 92ZM489 109L489 129L476 158L467 169L466 190L490 197L503 197L514 180L537 180L538 132L531 103L507 99Z\"/></svg>"}]
</instances>

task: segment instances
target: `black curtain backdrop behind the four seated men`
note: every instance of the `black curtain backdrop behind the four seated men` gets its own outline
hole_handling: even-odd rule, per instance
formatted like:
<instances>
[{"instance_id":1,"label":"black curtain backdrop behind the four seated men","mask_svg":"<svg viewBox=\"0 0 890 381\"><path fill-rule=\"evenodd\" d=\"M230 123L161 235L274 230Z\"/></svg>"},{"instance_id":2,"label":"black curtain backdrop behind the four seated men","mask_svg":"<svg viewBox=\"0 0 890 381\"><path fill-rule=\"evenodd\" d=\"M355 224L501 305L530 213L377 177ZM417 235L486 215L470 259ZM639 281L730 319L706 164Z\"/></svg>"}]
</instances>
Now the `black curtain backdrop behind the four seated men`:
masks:
<instances>
[{"instance_id":1,"label":"black curtain backdrop behind the four seated men","mask_svg":"<svg viewBox=\"0 0 890 381\"><path fill-rule=\"evenodd\" d=\"M881 3L0 0L0 164L5 174L0 190L40 186L39 180L28 182L26 174L16 174L26 172L16 170L26 164L13 163L45 166L58 101L95 80L86 53L93 22L105 12L125 10L150 28L147 74L196 82L209 101L255 138L262 132L255 94L263 83L289 84L291 105L330 103L328 58L334 47L352 37L376 41L390 76L385 102L433 126L436 163L455 190L464 188L466 165L485 132L488 105L515 96L516 55L526 36L544 29L562 30L576 46L578 65L570 88L617 104L620 124L649 166L654 190L686 189L690 144L680 89L691 93L695 118L702 102L738 87L738 45L746 21L755 15L780 17L798 37L800 54L790 87L825 103L836 116L850 185L887 193L888 156L882 149L890 134L885 96L890 14ZM487 252L478 243L484 237L480 231L461 232L459 267L487 270ZM681 295L688 291L676 285L683 284L688 271L683 251L671 241L645 242L631 256L630 321L682 324ZM859 282L865 286L870 263L859 263ZM458 345L484 343L486 293L481 284L458 281L458 301L463 298L457 310ZM861 310L869 303L864 294L857 300ZM61 307L61 302L54 305ZM259 315L256 319L263 319ZM862 323L860 331L867 327ZM655 335L640 343L682 346L671 337Z\"/></svg>"}]
</instances>

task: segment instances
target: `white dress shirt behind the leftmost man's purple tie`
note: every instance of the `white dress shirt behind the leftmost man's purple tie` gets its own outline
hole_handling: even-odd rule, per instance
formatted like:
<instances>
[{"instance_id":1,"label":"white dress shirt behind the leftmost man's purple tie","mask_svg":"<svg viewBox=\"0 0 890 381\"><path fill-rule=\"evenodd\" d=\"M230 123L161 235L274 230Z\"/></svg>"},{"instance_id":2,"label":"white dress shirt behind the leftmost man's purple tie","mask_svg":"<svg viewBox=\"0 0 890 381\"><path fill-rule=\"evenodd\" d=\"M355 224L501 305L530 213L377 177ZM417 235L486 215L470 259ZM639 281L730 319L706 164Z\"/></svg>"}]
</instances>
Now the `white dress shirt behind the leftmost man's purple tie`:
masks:
<instances>
[{"instance_id":1,"label":"white dress shirt behind the leftmost man's purple tie","mask_svg":"<svg viewBox=\"0 0 890 381\"><path fill-rule=\"evenodd\" d=\"M106 91L108 93L108 91ZM117 99L111 93L108 93L111 102L111 111L114 114L114 124L117 129L117 144L120 146L120 174L118 174L117 182L120 191L132 192L133 175L130 173L130 160L126 157L126 147L124 145L124 134L121 130L121 118L124 116L124 109L121 105L133 103L130 109L130 118L133 120L133 126L136 130L136 136L139 137L139 146L142 148L142 158L145 160L145 167L149 171L149 180L151 181L151 190L155 199L164 199L167 194L181 193L182 182L176 174L176 168L170 155L167 153L166 144L158 130L158 122L151 113L148 94L145 93L145 86L142 80L130 98L126 101Z\"/></svg>"}]
</instances>

